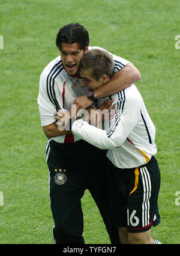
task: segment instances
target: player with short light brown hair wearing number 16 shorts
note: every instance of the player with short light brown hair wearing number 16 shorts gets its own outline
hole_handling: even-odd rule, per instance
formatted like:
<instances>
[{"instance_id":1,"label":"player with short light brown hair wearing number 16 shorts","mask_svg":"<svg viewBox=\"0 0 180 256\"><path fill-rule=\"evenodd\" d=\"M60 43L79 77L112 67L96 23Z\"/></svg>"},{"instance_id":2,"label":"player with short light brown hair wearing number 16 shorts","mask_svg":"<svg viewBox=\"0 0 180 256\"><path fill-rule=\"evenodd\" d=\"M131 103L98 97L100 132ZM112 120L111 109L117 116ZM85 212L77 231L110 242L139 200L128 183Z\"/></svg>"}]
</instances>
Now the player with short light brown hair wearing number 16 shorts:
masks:
<instances>
[{"instance_id":1,"label":"player with short light brown hair wearing number 16 shorts","mask_svg":"<svg viewBox=\"0 0 180 256\"><path fill-rule=\"evenodd\" d=\"M92 49L83 56L82 87L94 90L112 75L113 59L108 52ZM151 227L160 223L160 169L154 156L154 124L134 84L112 94L110 99L115 100L116 114L109 129L102 130L79 119L71 130L95 147L108 149L109 203L121 243L160 243L151 237Z\"/></svg>"}]
</instances>

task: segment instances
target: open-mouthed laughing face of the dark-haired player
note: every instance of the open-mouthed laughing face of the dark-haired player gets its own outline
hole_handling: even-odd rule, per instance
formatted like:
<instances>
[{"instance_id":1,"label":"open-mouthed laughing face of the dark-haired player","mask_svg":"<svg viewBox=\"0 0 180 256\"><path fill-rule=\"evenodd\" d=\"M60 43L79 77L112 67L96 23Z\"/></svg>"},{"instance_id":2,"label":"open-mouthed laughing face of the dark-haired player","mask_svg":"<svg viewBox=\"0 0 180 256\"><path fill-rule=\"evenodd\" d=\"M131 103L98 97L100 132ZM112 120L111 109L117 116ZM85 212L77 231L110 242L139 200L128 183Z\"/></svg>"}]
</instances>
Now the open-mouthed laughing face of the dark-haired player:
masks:
<instances>
[{"instance_id":1,"label":"open-mouthed laughing face of the dark-haired player","mask_svg":"<svg viewBox=\"0 0 180 256\"><path fill-rule=\"evenodd\" d=\"M62 64L68 75L77 75L79 71L79 63L83 55L88 52L88 46L85 50L80 50L77 43L62 43L60 52Z\"/></svg>"}]
</instances>

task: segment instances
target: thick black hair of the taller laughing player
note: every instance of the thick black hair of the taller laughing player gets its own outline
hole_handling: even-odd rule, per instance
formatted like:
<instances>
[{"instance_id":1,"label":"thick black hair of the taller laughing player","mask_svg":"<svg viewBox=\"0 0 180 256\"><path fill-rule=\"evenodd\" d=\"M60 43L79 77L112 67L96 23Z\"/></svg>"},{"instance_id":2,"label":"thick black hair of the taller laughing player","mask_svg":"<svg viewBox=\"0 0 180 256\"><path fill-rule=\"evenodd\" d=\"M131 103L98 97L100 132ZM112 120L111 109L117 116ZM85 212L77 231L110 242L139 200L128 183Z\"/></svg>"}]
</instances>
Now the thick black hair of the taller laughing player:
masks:
<instances>
[{"instance_id":1,"label":"thick black hair of the taller laughing player","mask_svg":"<svg viewBox=\"0 0 180 256\"><path fill-rule=\"evenodd\" d=\"M61 28L56 37L56 46L61 50L62 43L77 43L80 50L89 46L88 31L79 23L70 23Z\"/></svg>"}]
</instances>

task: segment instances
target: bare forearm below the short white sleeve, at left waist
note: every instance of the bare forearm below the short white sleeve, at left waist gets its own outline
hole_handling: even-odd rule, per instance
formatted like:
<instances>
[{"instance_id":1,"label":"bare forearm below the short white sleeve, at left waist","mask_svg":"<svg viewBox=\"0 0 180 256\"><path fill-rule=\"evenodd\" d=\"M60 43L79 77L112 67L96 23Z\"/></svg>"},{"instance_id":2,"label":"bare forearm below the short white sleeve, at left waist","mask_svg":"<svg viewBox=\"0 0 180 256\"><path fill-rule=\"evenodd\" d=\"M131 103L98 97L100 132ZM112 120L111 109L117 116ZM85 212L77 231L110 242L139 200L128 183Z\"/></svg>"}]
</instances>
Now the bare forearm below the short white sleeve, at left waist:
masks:
<instances>
[{"instance_id":1,"label":"bare forearm below the short white sleeve, at left waist","mask_svg":"<svg viewBox=\"0 0 180 256\"><path fill-rule=\"evenodd\" d=\"M59 130L55 123L49 124L48 126L43 126L43 131L47 138L54 138L72 133L71 130Z\"/></svg>"}]
</instances>

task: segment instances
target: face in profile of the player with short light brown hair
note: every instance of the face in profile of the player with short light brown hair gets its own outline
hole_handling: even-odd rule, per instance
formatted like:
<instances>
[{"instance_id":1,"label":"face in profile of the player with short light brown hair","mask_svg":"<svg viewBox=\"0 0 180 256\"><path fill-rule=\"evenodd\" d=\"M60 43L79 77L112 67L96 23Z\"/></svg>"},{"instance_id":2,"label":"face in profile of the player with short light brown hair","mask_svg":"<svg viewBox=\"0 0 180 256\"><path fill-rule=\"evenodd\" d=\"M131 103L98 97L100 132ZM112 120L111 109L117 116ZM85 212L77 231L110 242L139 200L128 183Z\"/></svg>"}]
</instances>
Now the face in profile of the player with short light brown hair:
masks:
<instances>
[{"instance_id":1,"label":"face in profile of the player with short light brown hair","mask_svg":"<svg viewBox=\"0 0 180 256\"><path fill-rule=\"evenodd\" d=\"M104 84L103 77L101 77L100 80L97 81L95 78L92 78L91 70L89 69L81 68L79 74L80 74L80 77L82 78L82 81L81 81L82 87L85 86L86 88L93 90Z\"/></svg>"}]
</instances>

